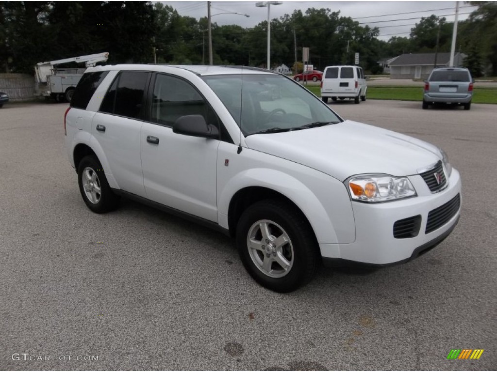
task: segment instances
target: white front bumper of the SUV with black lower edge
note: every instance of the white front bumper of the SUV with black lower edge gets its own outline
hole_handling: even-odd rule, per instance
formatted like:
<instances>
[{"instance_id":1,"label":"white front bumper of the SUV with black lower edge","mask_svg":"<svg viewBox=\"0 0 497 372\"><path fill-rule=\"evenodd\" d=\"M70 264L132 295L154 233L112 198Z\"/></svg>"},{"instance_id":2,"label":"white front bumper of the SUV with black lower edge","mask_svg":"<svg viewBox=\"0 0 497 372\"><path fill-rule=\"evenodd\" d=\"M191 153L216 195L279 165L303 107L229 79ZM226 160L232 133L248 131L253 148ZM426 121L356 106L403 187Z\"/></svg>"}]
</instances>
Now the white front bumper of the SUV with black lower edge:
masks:
<instances>
[{"instance_id":1,"label":"white front bumper of the SUV with black lower edge","mask_svg":"<svg viewBox=\"0 0 497 372\"><path fill-rule=\"evenodd\" d=\"M351 244L320 244L324 261L390 265L413 259L445 239L458 222L460 205L457 212L435 230L426 233L426 222L430 211L449 203L458 194L461 196L459 172L453 169L448 186L437 193L431 193L421 176L409 179L418 194L416 197L378 204L352 202L356 239ZM394 237L393 227L397 221L418 215L421 222L417 236Z\"/></svg>"}]
</instances>

